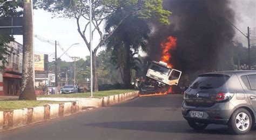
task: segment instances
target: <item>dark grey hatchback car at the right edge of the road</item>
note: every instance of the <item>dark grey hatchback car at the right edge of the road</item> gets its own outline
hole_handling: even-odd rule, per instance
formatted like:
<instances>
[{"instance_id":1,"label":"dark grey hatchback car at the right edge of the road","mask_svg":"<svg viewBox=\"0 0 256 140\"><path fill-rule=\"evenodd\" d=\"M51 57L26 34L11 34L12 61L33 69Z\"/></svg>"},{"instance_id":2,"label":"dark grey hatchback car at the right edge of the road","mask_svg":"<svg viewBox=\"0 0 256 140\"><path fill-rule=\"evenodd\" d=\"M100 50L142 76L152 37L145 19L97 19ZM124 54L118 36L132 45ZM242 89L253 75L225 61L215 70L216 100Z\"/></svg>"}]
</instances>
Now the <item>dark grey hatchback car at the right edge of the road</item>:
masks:
<instances>
[{"instance_id":1,"label":"dark grey hatchback car at the right edge of the road","mask_svg":"<svg viewBox=\"0 0 256 140\"><path fill-rule=\"evenodd\" d=\"M182 114L197 130L227 124L234 134L246 134L256 123L256 71L199 75L184 92Z\"/></svg>"}]
</instances>

